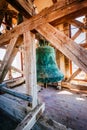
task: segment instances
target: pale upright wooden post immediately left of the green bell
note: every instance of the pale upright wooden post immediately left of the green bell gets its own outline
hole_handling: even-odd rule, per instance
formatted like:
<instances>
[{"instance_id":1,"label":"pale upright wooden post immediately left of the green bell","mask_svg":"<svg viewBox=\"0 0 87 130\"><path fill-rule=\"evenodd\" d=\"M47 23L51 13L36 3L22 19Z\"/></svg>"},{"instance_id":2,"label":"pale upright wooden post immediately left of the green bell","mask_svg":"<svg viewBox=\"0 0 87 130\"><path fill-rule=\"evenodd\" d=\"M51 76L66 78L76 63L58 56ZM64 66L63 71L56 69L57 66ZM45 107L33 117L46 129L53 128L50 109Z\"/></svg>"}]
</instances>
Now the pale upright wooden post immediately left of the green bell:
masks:
<instances>
[{"instance_id":1,"label":"pale upright wooden post immediately left of the green bell","mask_svg":"<svg viewBox=\"0 0 87 130\"><path fill-rule=\"evenodd\" d=\"M33 97L33 109L37 105L37 78L35 35L31 32L24 33L24 50L26 92Z\"/></svg>"}]
</instances>

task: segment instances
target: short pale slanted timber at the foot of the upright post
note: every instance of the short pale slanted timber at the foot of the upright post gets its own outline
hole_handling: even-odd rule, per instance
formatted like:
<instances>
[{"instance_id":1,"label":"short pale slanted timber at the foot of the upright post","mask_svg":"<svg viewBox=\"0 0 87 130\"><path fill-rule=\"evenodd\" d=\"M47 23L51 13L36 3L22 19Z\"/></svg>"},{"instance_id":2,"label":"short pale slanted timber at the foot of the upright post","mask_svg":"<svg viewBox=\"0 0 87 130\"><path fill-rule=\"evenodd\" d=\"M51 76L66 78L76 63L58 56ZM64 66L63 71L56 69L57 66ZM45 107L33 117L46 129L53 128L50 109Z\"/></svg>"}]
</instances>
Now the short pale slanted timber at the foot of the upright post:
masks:
<instances>
[{"instance_id":1,"label":"short pale slanted timber at the foot of the upright post","mask_svg":"<svg viewBox=\"0 0 87 130\"><path fill-rule=\"evenodd\" d=\"M37 107L34 110L32 110L24 118L24 120L22 120L22 122L17 126L17 128L15 130L31 130L33 125L36 123L36 121L42 115L44 109L45 109L44 103L37 105Z\"/></svg>"}]
</instances>

